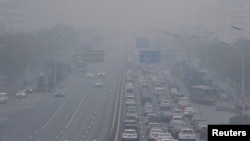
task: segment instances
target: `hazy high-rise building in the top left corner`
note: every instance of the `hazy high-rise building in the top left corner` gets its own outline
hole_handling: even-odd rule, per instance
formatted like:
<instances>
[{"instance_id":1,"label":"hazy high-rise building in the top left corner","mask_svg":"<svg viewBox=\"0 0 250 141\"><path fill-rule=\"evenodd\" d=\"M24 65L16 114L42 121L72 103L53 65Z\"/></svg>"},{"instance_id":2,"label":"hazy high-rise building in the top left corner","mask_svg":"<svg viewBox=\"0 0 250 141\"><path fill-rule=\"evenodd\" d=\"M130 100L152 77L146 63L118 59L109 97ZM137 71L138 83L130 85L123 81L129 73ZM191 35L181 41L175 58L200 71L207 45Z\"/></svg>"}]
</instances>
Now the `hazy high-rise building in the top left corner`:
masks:
<instances>
[{"instance_id":1,"label":"hazy high-rise building in the top left corner","mask_svg":"<svg viewBox=\"0 0 250 141\"><path fill-rule=\"evenodd\" d=\"M23 0L0 0L0 32L24 30L25 4Z\"/></svg>"}]
</instances>

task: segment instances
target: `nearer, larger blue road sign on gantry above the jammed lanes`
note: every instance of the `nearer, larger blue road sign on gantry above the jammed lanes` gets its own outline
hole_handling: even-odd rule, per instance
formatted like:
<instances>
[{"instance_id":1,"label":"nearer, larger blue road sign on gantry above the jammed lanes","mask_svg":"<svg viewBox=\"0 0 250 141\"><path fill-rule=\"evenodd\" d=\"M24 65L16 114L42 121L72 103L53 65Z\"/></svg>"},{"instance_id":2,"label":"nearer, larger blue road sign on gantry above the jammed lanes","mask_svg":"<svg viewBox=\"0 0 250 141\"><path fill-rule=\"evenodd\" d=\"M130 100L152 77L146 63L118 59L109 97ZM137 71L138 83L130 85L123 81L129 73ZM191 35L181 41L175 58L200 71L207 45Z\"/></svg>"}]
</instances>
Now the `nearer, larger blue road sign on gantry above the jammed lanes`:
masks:
<instances>
[{"instance_id":1,"label":"nearer, larger blue road sign on gantry above the jammed lanes","mask_svg":"<svg viewBox=\"0 0 250 141\"><path fill-rule=\"evenodd\" d=\"M160 51L158 50L142 50L139 54L140 63L159 63Z\"/></svg>"}]
</instances>

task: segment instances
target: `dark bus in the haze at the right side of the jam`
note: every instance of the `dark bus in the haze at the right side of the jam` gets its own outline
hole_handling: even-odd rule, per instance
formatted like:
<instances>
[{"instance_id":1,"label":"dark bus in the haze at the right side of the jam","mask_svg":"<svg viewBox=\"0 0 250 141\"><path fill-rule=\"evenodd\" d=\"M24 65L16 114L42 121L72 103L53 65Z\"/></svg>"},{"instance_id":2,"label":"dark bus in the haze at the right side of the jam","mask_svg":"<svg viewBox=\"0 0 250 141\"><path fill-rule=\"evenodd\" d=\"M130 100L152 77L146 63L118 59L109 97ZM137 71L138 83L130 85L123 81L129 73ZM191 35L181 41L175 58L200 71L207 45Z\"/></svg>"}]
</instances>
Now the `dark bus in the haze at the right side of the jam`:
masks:
<instances>
[{"instance_id":1,"label":"dark bus in the haze at the right side of the jam","mask_svg":"<svg viewBox=\"0 0 250 141\"><path fill-rule=\"evenodd\" d=\"M218 99L215 88L206 85L193 85L190 87L190 100L201 104L214 104Z\"/></svg>"}]
</instances>

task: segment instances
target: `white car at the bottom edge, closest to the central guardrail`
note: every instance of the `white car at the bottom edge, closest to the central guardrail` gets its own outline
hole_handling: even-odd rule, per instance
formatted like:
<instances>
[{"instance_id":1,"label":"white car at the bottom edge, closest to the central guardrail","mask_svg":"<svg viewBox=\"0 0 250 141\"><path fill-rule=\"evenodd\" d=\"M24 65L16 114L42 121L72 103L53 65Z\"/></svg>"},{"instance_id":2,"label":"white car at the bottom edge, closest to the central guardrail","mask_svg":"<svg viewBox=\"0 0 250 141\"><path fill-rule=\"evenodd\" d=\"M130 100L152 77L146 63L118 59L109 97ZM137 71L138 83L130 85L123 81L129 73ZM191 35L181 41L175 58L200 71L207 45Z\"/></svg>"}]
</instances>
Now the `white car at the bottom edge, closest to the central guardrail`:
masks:
<instances>
[{"instance_id":1,"label":"white car at the bottom edge, closest to the central guardrail","mask_svg":"<svg viewBox=\"0 0 250 141\"><path fill-rule=\"evenodd\" d=\"M122 141L137 141L139 136L135 129L124 129L122 133Z\"/></svg>"}]
</instances>

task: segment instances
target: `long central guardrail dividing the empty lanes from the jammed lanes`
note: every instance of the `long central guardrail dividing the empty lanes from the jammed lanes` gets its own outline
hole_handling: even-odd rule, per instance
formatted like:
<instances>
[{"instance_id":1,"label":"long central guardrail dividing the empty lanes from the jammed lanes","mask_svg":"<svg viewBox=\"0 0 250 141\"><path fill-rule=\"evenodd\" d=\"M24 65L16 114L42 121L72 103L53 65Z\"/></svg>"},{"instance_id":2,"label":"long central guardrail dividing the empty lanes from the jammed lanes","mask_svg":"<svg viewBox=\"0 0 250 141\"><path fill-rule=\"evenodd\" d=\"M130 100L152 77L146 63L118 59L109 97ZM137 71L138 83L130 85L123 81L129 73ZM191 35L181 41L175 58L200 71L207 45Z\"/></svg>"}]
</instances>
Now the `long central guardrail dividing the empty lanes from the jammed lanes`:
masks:
<instances>
[{"instance_id":1,"label":"long central guardrail dividing the empty lanes from the jammed lanes","mask_svg":"<svg viewBox=\"0 0 250 141\"><path fill-rule=\"evenodd\" d=\"M124 69L121 73L121 78L119 81L119 86L116 95L116 103L115 110L113 115L113 122L110 131L110 135L108 141L117 141L119 135L119 126L120 126L120 117L121 117L121 104L122 104L122 90L123 90L123 82L124 82Z\"/></svg>"}]
</instances>

